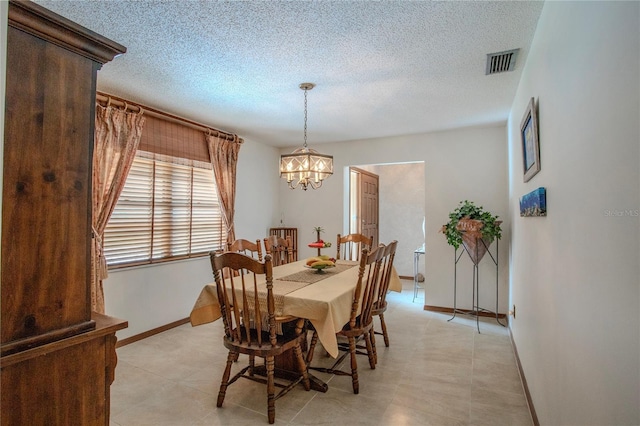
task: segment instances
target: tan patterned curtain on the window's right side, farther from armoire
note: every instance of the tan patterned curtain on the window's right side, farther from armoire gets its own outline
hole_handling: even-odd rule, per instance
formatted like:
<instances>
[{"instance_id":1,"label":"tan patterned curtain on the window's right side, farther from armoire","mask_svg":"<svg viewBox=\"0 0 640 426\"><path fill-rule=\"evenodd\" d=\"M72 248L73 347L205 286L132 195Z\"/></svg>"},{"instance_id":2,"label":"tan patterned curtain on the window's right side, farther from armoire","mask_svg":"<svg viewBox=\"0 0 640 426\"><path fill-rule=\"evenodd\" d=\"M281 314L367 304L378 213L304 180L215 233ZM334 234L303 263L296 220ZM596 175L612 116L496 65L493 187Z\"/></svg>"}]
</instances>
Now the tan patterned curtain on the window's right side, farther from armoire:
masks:
<instances>
[{"instance_id":1,"label":"tan patterned curtain on the window's right side, farther from armoire","mask_svg":"<svg viewBox=\"0 0 640 426\"><path fill-rule=\"evenodd\" d=\"M237 135L234 135L233 140L209 134L205 137L220 197L222 216L227 226L227 242L231 243L236 239L236 232L233 228L236 204L236 166L242 140Z\"/></svg>"}]
</instances>

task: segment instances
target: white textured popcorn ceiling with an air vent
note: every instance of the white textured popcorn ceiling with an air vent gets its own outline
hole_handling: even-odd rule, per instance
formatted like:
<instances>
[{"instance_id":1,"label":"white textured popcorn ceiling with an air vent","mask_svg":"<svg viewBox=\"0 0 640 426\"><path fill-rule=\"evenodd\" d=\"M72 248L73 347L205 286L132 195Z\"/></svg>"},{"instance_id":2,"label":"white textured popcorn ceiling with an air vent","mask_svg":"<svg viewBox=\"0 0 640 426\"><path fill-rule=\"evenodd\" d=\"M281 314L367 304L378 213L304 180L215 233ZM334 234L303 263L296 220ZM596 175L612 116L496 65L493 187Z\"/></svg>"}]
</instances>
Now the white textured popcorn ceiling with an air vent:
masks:
<instances>
[{"instance_id":1,"label":"white textured popcorn ceiling with an air vent","mask_svg":"<svg viewBox=\"0 0 640 426\"><path fill-rule=\"evenodd\" d=\"M504 123L543 3L45 1L127 47L98 89L273 146ZM516 69L486 55L520 48Z\"/></svg>"}]
</instances>

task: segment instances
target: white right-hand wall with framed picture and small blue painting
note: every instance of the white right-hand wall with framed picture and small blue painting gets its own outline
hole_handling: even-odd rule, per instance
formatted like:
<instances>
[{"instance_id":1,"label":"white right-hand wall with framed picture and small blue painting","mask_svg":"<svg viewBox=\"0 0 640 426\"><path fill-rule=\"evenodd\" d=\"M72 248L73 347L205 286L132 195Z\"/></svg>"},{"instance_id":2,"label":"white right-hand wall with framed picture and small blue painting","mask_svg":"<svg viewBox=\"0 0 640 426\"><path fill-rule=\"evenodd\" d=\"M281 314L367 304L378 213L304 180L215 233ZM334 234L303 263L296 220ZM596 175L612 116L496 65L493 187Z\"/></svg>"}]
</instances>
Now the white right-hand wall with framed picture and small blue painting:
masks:
<instances>
[{"instance_id":1,"label":"white right-hand wall with framed picture and small blue painting","mask_svg":"<svg viewBox=\"0 0 640 426\"><path fill-rule=\"evenodd\" d=\"M639 15L545 3L509 119L511 328L543 425L640 424ZM525 184L531 97L542 168ZM541 186L548 217L519 217Z\"/></svg>"}]
</instances>

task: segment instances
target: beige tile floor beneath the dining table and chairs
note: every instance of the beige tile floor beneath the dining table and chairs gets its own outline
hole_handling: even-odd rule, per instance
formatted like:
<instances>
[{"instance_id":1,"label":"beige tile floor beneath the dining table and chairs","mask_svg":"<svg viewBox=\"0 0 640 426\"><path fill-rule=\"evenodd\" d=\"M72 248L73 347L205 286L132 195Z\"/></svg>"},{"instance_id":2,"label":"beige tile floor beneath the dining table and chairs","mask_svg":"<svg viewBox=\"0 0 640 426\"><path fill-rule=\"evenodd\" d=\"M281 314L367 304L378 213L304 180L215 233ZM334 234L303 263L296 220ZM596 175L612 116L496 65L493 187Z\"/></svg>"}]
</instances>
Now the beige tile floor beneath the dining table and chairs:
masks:
<instances>
[{"instance_id":1,"label":"beige tile floor beneath the dining table and chairs","mask_svg":"<svg viewBox=\"0 0 640 426\"><path fill-rule=\"evenodd\" d=\"M422 292L412 303L412 281L403 285L387 297L391 346L377 338L375 370L358 357L360 394L348 376L314 372L328 392L293 389L276 401L276 424L532 425L507 329L483 319L478 334L473 318L447 322L422 309ZM221 335L220 321L186 324L119 348L111 426L268 424L259 383L240 379L216 408ZM317 350L314 364L331 361Z\"/></svg>"}]
</instances>

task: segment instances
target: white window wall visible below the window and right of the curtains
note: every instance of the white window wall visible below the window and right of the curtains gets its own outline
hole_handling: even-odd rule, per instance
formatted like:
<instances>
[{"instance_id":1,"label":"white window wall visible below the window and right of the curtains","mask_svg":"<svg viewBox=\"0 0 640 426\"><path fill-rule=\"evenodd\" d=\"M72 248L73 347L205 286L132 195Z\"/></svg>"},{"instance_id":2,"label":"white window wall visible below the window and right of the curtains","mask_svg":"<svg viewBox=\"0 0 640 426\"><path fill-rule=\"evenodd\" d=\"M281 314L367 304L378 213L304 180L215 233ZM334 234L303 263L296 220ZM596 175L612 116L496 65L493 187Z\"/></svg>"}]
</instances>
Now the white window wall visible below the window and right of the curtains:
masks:
<instances>
[{"instance_id":1,"label":"white window wall visible below the window and right of the curtains","mask_svg":"<svg viewBox=\"0 0 640 426\"><path fill-rule=\"evenodd\" d=\"M276 223L279 177L275 148L245 141L238 156L236 237L264 238ZM208 257L109 272L107 315L129 321L118 339L189 316L202 287L213 281Z\"/></svg>"}]
</instances>

